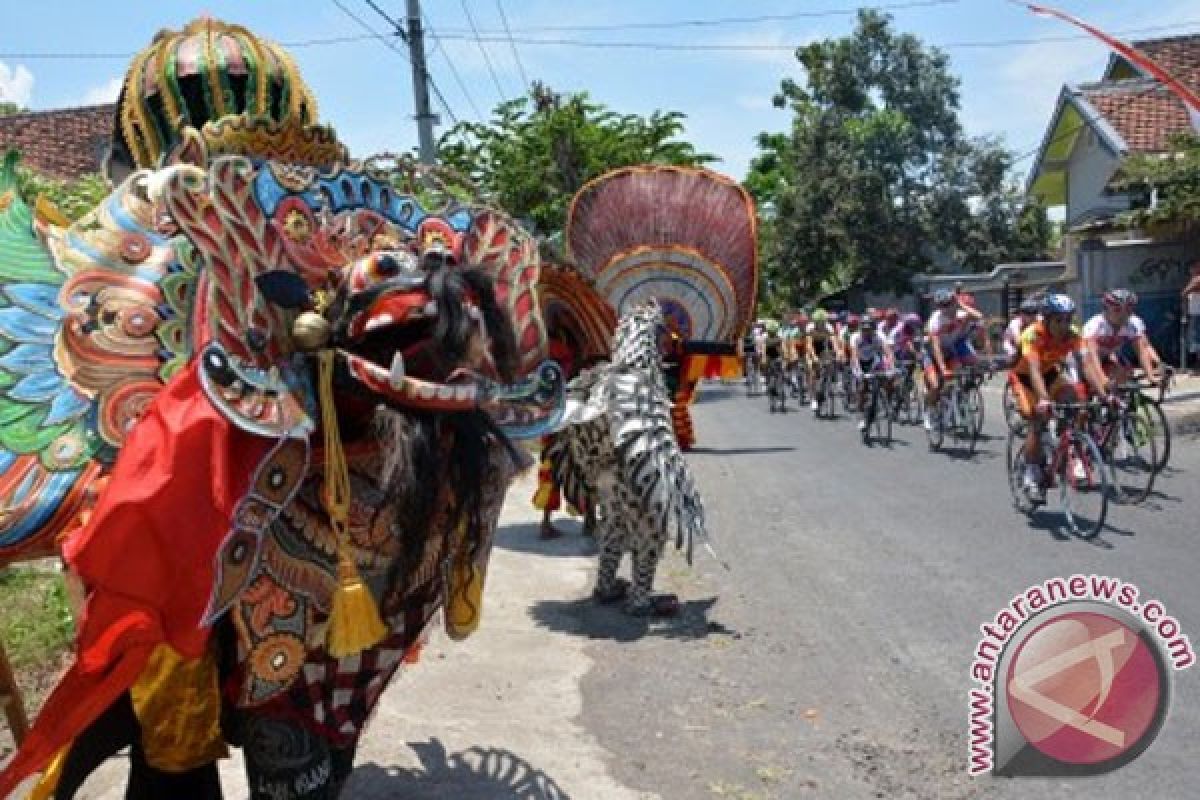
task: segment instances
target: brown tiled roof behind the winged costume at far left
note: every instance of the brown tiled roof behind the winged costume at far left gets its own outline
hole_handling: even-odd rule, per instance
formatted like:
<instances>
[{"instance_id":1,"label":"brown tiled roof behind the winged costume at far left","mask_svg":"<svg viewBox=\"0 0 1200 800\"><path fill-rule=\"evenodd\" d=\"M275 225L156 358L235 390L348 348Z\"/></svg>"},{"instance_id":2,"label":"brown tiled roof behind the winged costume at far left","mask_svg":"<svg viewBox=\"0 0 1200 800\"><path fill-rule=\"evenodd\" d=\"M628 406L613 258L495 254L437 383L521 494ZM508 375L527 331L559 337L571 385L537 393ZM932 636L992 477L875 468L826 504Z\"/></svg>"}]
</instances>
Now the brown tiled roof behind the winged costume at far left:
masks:
<instances>
[{"instance_id":1,"label":"brown tiled roof behind the winged costume at far left","mask_svg":"<svg viewBox=\"0 0 1200 800\"><path fill-rule=\"evenodd\" d=\"M62 180L100 172L114 109L109 103L0 116L0 154L16 148L22 164Z\"/></svg>"}]
</instances>

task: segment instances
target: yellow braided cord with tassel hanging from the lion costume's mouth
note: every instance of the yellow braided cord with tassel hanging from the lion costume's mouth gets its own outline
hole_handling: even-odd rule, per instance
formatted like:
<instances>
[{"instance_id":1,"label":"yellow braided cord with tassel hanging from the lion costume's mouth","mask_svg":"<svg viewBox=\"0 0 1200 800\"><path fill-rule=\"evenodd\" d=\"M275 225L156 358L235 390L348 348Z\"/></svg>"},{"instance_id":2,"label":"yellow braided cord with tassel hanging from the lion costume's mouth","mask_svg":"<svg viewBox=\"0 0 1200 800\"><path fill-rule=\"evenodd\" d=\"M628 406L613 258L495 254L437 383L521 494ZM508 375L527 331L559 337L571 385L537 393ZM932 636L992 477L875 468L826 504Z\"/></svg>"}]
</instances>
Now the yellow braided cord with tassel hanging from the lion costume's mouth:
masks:
<instances>
[{"instance_id":1,"label":"yellow braided cord with tassel hanging from the lion costume's mouth","mask_svg":"<svg viewBox=\"0 0 1200 800\"><path fill-rule=\"evenodd\" d=\"M337 589L329 612L325 649L335 658L361 652L388 636L371 590L362 583L350 541L347 517L350 511L350 473L337 429L334 408L334 351L317 354L317 383L320 399L320 425L325 432L325 511L337 540Z\"/></svg>"}]
</instances>

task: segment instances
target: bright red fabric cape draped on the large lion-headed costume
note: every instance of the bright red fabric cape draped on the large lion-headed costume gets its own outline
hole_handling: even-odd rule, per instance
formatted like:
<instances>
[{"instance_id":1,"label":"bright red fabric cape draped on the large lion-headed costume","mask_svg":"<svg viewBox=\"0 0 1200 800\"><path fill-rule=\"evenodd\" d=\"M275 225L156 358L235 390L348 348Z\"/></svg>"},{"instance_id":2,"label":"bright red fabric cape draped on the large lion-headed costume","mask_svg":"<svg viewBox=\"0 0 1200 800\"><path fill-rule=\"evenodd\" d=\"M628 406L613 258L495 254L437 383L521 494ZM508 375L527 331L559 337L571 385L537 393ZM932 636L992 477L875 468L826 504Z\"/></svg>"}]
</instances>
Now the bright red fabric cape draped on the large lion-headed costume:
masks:
<instances>
[{"instance_id":1,"label":"bright red fabric cape draped on the large lion-headed costume","mask_svg":"<svg viewBox=\"0 0 1200 800\"><path fill-rule=\"evenodd\" d=\"M204 651L209 630L199 621L217 546L276 443L224 419L197 369L193 361L180 371L146 408L92 516L64 543L88 589L76 662L0 772L0 798L132 686L157 644L188 658Z\"/></svg>"}]
</instances>

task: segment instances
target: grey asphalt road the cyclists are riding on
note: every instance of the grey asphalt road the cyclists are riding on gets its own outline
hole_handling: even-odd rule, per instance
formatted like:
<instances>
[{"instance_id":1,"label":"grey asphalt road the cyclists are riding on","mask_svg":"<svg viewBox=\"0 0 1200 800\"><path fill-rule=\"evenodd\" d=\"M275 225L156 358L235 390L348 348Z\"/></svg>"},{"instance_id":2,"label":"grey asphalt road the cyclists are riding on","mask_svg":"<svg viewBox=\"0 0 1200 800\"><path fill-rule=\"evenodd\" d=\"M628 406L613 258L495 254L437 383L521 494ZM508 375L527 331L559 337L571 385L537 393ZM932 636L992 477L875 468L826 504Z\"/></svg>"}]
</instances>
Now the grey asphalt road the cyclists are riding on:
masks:
<instances>
[{"instance_id":1,"label":"grey asphalt road the cyclists are riding on","mask_svg":"<svg viewBox=\"0 0 1200 800\"><path fill-rule=\"evenodd\" d=\"M589 639L582 720L614 777L685 799L1195 796L1200 668L1175 675L1158 740L1115 772L968 777L979 626L1026 587L1123 578L1200 646L1200 440L1178 441L1156 495L1087 542L1013 510L986 398L990 438L955 457L929 452L919 427L868 449L846 417L701 390L689 461L731 570L668 558L678 620L631 624L588 602L530 612Z\"/></svg>"}]
</instances>

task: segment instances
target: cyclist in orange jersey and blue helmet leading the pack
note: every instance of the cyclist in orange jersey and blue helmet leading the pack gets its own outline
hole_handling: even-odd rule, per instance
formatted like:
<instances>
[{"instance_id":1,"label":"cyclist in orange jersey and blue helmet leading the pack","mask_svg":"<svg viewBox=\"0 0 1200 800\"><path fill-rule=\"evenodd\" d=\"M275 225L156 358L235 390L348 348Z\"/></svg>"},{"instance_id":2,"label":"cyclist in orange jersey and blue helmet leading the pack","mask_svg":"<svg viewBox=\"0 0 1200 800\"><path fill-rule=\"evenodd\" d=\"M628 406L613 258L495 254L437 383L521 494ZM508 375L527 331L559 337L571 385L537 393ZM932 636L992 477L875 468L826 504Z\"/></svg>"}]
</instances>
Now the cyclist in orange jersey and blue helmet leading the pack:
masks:
<instances>
[{"instance_id":1,"label":"cyclist in orange jersey and blue helmet leading the pack","mask_svg":"<svg viewBox=\"0 0 1200 800\"><path fill-rule=\"evenodd\" d=\"M1025 438L1025 488L1032 499L1042 494L1042 431L1050 416L1052 401L1070 402L1087 398L1076 368L1097 395L1105 393L1104 373L1087 354L1087 344L1072 326L1075 302L1064 294L1046 296L1042 320L1021 333L1021 354L1008 373L1016 409L1030 423Z\"/></svg>"}]
</instances>

